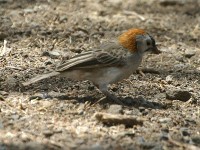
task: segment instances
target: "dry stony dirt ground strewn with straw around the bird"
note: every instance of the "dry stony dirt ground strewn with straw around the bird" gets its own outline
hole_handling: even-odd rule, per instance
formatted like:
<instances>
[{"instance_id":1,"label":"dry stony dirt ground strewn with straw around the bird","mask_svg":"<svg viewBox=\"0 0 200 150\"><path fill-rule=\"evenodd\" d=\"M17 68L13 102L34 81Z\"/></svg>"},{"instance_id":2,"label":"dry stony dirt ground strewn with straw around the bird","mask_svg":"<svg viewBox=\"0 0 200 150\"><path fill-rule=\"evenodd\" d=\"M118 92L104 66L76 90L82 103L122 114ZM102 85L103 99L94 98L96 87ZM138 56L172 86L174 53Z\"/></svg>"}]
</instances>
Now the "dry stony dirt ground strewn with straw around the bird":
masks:
<instances>
[{"instance_id":1,"label":"dry stony dirt ground strewn with straw around the bird","mask_svg":"<svg viewBox=\"0 0 200 150\"><path fill-rule=\"evenodd\" d=\"M125 106L89 81L22 86L129 28L162 53L110 85ZM200 149L199 39L199 0L0 0L0 150Z\"/></svg>"}]
</instances>

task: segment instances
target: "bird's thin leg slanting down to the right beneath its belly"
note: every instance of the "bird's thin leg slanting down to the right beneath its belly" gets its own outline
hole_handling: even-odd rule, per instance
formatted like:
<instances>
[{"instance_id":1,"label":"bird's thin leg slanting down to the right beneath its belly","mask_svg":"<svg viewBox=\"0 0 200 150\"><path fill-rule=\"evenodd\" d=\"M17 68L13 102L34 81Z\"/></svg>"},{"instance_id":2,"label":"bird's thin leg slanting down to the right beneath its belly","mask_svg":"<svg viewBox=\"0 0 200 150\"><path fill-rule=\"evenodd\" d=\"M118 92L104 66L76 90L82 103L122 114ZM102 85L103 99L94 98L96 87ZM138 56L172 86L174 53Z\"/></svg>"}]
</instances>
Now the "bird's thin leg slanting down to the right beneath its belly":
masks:
<instances>
[{"instance_id":1,"label":"bird's thin leg slanting down to the right beneath its belly","mask_svg":"<svg viewBox=\"0 0 200 150\"><path fill-rule=\"evenodd\" d=\"M115 95L111 94L108 91L107 86L103 85L103 86L98 86L98 87L99 87L99 90L106 96L106 98L111 99L117 104L124 105Z\"/></svg>"}]
</instances>

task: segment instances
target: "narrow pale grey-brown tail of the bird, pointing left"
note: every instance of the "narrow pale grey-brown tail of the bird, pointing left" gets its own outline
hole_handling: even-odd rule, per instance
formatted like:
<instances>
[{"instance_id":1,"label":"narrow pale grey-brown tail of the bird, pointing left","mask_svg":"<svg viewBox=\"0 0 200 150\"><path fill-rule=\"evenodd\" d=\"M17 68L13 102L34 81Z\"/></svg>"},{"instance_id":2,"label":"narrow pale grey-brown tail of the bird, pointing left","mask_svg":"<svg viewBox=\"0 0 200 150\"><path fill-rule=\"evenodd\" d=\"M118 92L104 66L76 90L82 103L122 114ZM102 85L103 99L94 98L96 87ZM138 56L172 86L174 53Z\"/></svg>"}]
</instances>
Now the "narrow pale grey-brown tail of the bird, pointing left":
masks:
<instances>
[{"instance_id":1,"label":"narrow pale grey-brown tail of the bird, pointing left","mask_svg":"<svg viewBox=\"0 0 200 150\"><path fill-rule=\"evenodd\" d=\"M59 72L54 71L54 72L51 72L51 73L38 75L38 76L36 76L36 77L34 77L34 78L30 79L29 81L24 82L24 83L22 83L22 84L23 84L24 86L27 86L27 85L29 85L29 84L38 82L38 81L40 81L40 80L42 80L42 79L46 79L46 78L49 78L49 77L53 77L53 76L56 76L56 75L59 75L59 74L60 74Z\"/></svg>"}]
</instances>

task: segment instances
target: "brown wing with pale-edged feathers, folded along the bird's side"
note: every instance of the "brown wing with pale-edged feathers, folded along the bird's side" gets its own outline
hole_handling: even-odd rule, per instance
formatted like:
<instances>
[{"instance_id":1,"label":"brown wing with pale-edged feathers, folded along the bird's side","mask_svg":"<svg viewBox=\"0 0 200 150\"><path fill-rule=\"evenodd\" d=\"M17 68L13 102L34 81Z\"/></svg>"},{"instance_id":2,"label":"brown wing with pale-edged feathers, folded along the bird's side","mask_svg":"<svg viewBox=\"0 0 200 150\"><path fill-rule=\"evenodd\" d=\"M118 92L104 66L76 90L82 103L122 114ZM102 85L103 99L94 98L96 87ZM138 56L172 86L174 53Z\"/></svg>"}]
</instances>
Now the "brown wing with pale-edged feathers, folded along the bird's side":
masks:
<instances>
[{"instance_id":1,"label":"brown wing with pale-edged feathers, folded along the bird's side","mask_svg":"<svg viewBox=\"0 0 200 150\"><path fill-rule=\"evenodd\" d=\"M107 43L101 45L99 49L83 52L72 57L67 62L61 64L57 71L123 65L124 54L125 50L116 45L116 43Z\"/></svg>"}]
</instances>

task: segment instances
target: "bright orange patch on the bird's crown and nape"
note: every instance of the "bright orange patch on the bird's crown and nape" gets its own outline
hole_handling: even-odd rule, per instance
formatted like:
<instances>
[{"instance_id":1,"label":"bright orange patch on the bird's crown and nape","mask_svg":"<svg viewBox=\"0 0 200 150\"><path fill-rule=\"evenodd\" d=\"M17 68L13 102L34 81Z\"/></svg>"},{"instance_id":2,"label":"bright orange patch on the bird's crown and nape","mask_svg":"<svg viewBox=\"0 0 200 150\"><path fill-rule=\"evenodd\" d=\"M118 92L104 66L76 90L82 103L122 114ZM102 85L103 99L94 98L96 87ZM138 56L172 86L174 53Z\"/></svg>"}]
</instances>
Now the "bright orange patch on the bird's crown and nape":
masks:
<instances>
[{"instance_id":1,"label":"bright orange patch on the bird's crown and nape","mask_svg":"<svg viewBox=\"0 0 200 150\"><path fill-rule=\"evenodd\" d=\"M130 51L135 51L136 48L136 36L146 34L142 29L129 29L127 32L121 34L118 38L119 43Z\"/></svg>"}]
</instances>

